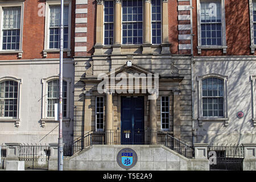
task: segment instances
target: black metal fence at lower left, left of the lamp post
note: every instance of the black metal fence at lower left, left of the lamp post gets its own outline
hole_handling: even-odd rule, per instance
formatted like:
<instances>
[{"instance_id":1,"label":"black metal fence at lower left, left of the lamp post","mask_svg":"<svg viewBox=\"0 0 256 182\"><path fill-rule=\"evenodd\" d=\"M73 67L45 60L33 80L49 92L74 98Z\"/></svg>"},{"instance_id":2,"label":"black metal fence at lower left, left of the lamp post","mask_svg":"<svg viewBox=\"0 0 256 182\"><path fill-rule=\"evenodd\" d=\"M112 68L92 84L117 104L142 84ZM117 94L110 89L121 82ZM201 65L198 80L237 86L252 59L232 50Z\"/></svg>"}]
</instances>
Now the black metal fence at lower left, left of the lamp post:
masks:
<instances>
[{"instance_id":1,"label":"black metal fence at lower left, left of the lamp post","mask_svg":"<svg viewBox=\"0 0 256 182\"><path fill-rule=\"evenodd\" d=\"M47 144L22 144L19 146L19 160L25 162L25 168L48 169L50 148Z\"/></svg>"}]
</instances>

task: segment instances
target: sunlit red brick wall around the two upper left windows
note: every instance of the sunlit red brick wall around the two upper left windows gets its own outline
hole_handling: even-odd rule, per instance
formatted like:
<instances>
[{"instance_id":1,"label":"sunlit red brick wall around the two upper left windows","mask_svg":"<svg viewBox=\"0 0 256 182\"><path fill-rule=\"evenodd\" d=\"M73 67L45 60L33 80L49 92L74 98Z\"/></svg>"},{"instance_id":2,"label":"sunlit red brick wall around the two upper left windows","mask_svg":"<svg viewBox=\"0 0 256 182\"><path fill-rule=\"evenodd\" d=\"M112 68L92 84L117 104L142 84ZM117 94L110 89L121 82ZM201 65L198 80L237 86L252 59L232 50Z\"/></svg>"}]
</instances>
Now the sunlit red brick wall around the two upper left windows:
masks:
<instances>
[{"instance_id":1,"label":"sunlit red brick wall around the two upper left windows","mask_svg":"<svg viewBox=\"0 0 256 182\"><path fill-rule=\"evenodd\" d=\"M27 0L24 1L23 15L23 38L22 38L22 60L23 59L42 59L44 49L44 24L45 17L38 16L39 3L46 1ZM72 1L72 12L75 12L75 0ZM75 13L72 13L71 26L71 56L74 52L74 25ZM47 58L58 58L59 53L47 53ZM64 52L64 57L67 53ZM0 60L15 60L18 59L18 53L0 54Z\"/></svg>"}]
</instances>

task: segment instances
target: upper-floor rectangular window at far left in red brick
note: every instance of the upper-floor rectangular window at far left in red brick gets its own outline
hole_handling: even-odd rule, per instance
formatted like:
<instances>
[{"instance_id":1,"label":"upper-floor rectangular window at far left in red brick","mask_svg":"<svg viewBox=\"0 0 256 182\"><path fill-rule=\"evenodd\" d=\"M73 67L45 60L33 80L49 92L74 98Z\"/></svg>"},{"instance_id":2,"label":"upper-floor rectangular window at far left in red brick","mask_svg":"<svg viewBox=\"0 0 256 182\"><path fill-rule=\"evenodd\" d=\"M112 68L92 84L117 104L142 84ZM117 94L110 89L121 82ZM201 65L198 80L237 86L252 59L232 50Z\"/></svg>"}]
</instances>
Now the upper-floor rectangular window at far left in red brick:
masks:
<instances>
[{"instance_id":1,"label":"upper-floor rectangular window at far left in red brick","mask_svg":"<svg viewBox=\"0 0 256 182\"><path fill-rule=\"evenodd\" d=\"M2 49L19 50L21 7L3 7Z\"/></svg>"}]
</instances>

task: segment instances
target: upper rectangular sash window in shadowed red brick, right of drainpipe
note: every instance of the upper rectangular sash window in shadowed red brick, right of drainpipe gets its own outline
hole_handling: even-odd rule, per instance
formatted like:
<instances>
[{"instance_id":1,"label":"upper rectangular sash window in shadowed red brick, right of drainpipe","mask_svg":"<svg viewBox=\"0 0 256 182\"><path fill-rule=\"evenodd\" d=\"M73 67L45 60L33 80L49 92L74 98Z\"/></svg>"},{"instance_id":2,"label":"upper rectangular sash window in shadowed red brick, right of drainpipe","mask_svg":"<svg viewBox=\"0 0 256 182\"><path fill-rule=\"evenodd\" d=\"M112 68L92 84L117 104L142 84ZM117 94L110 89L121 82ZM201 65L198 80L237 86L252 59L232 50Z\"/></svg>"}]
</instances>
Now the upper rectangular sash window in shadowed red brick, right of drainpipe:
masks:
<instances>
[{"instance_id":1,"label":"upper rectangular sash window in shadowed red brick, right of drainpipe","mask_svg":"<svg viewBox=\"0 0 256 182\"><path fill-rule=\"evenodd\" d=\"M221 1L201 0L201 46L222 46Z\"/></svg>"}]
</instances>

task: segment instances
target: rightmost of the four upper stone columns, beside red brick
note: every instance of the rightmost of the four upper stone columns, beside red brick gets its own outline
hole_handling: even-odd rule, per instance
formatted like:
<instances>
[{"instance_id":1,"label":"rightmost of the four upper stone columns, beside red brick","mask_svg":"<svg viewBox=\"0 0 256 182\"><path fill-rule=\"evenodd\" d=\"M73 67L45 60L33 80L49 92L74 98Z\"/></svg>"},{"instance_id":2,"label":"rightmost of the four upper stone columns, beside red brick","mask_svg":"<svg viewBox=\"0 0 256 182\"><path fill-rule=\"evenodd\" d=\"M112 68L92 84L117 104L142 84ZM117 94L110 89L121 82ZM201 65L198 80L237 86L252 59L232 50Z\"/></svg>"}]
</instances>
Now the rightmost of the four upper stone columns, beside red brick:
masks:
<instances>
[{"instance_id":1,"label":"rightmost of the four upper stone columns, beside red brick","mask_svg":"<svg viewBox=\"0 0 256 182\"><path fill-rule=\"evenodd\" d=\"M171 53L170 52L170 46L169 43L169 31L168 31L168 0L162 1L162 52L165 53Z\"/></svg>"}]
</instances>

